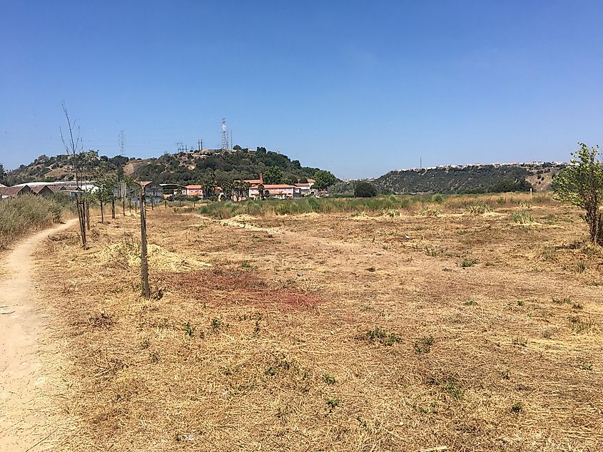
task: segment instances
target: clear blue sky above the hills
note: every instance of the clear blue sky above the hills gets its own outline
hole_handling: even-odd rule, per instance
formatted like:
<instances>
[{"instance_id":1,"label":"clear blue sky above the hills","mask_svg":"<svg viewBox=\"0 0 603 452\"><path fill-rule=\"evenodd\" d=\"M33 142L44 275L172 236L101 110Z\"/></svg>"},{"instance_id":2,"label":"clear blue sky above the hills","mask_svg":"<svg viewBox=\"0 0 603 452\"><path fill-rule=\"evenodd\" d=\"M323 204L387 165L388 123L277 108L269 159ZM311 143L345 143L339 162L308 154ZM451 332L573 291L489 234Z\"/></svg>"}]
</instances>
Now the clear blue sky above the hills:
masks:
<instances>
[{"instance_id":1,"label":"clear blue sky above the hills","mask_svg":"<svg viewBox=\"0 0 603 452\"><path fill-rule=\"evenodd\" d=\"M340 178L602 143L602 1L0 0L0 163L203 138Z\"/></svg>"}]
</instances>

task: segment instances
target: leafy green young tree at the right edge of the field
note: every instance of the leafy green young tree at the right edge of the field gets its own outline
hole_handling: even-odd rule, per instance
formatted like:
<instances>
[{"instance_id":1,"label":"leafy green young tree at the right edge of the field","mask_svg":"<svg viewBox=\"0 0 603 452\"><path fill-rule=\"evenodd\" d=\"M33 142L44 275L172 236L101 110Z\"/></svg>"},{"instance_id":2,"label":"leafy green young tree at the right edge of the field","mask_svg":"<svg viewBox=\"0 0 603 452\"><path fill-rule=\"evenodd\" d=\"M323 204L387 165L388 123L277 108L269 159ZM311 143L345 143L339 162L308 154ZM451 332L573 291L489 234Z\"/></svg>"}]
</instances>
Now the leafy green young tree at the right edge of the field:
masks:
<instances>
[{"instance_id":1,"label":"leafy green young tree at the right edge of the field","mask_svg":"<svg viewBox=\"0 0 603 452\"><path fill-rule=\"evenodd\" d=\"M590 240L603 245L603 163L599 146L578 143L569 165L555 176L553 188L558 200L569 201L585 210Z\"/></svg>"}]
</instances>

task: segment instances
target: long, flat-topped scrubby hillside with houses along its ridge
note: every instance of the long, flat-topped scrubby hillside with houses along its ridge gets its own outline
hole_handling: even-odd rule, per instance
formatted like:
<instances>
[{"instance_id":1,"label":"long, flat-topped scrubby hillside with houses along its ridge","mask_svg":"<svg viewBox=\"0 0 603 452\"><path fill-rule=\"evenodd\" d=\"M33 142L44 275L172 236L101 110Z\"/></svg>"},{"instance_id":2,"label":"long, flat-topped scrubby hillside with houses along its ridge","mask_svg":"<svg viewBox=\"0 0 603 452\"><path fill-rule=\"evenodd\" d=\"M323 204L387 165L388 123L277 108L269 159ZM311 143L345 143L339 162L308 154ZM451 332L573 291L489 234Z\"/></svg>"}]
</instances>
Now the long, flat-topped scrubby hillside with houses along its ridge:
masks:
<instances>
[{"instance_id":1,"label":"long, flat-topped scrubby hillside with houses along its ridge","mask_svg":"<svg viewBox=\"0 0 603 452\"><path fill-rule=\"evenodd\" d=\"M373 183L383 192L393 193L483 193L550 190L552 177L562 165L552 163L522 165L467 165L396 170Z\"/></svg>"}]
</instances>

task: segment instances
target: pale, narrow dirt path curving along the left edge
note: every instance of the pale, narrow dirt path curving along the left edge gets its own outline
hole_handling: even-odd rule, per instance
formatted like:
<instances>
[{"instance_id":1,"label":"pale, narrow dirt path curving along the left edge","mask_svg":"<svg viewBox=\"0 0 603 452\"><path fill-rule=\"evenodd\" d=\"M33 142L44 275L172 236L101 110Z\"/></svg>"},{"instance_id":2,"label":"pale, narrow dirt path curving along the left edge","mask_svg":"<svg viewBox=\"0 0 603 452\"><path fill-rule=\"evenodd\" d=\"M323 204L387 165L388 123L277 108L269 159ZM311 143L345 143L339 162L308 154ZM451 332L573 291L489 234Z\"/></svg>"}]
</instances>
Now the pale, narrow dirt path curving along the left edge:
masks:
<instances>
[{"instance_id":1,"label":"pale, narrow dirt path curving along the left edge","mask_svg":"<svg viewBox=\"0 0 603 452\"><path fill-rule=\"evenodd\" d=\"M19 242L4 262L8 277L0 282L0 451L44 450L53 432L48 404L40 394L46 379L39 338L46 321L36 306L31 252L41 240L75 222Z\"/></svg>"}]
</instances>

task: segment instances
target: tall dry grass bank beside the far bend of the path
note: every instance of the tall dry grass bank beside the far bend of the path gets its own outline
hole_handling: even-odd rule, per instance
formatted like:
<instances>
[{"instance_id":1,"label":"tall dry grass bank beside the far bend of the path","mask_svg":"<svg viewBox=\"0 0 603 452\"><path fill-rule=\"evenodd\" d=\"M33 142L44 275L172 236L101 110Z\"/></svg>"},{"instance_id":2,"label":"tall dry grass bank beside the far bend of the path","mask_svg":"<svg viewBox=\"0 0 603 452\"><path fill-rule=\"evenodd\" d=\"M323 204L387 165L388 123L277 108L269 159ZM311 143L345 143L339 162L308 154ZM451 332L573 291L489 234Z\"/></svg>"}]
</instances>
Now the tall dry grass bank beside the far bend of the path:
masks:
<instances>
[{"instance_id":1,"label":"tall dry grass bank beside the far bend of the path","mask_svg":"<svg viewBox=\"0 0 603 452\"><path fill-rule=\"evenodd\" d=\"M0 250L14 240L71 215L74 206L64 195L22 195L0 201Z\"/></svg>"}]
</instances>

